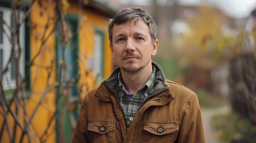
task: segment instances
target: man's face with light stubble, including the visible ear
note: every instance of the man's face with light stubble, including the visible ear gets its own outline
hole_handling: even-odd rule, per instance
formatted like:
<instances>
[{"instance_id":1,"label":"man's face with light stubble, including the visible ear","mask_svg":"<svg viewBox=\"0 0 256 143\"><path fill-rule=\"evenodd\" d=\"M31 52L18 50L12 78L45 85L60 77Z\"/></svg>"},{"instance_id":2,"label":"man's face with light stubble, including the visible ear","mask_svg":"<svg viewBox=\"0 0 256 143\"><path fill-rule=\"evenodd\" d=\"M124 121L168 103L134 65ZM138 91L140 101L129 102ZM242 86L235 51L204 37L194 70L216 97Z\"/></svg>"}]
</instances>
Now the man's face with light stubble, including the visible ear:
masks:
<instances>
[{"instance_id":1,"label":"man's face with light stubble, including the visible ear","mask_svg":"<svg viewBox=\"0 0 256 143\"><path fill-rule=\"evenodd\" d=\"M156 54L157 46L158 40L152 44L148 25L143 20L113 27L110 49L121 70L135 73L151 67L151 57Z\"/></svg>"}]
</instances>

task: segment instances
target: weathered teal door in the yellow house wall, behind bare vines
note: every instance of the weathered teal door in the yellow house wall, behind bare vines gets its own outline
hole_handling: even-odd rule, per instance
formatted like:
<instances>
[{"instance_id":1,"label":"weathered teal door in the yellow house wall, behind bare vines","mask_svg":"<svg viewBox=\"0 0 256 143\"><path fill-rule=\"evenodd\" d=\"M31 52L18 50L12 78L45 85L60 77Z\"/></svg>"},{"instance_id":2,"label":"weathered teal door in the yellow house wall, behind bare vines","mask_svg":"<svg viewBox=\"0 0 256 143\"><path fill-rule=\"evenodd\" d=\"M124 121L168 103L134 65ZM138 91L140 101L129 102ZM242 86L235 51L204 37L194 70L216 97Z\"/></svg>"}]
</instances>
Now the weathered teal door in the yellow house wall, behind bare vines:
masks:
<instances>
[{"instance_id":1,"label":"weathered teal door in the yellow house wall, behind bare vines","mask_svg":"<svg viewBox=\"0 0 256 143\"><path fill-rule=\"evenodd\" d=\"M68 15L68 14L67 14ZM57 81L61 78L61 99L57 104L57 143L69 143L72 138L73 128L78 118L78 92L76 82L78 81L78 22L72 16L66 17L69 41L65 46L65 60L63 61L63 40L61 38L61 24L57 26L56 36L56 60ZM63 63L62 75L60 77L61 63ZM58 91L58 90L57 90ZM59 94L57 93L57 96Z\"/></svg>"}]
</instances>

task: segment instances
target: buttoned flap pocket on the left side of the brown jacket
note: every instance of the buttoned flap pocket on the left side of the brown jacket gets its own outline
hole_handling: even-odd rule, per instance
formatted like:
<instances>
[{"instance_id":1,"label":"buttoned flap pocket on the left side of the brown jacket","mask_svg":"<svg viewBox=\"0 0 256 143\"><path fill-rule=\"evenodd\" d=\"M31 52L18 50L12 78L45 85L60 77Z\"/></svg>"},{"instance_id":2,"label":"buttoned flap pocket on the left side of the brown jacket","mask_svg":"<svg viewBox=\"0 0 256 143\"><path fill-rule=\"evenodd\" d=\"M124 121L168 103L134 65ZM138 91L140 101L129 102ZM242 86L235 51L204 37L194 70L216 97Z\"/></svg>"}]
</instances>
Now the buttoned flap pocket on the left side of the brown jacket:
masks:
<instances>
[{"instance_id":1,"label":"buttoned flap pocket on the left side of the brown jacket","mask_svg":"<svg viewBox=\"0 0 256 143\"><path fill-rule=\"evenodd\" d=\"M116 121L112 119L89 119L88 130L93 143L113 143Z\"/></svg>"}]
</instances>

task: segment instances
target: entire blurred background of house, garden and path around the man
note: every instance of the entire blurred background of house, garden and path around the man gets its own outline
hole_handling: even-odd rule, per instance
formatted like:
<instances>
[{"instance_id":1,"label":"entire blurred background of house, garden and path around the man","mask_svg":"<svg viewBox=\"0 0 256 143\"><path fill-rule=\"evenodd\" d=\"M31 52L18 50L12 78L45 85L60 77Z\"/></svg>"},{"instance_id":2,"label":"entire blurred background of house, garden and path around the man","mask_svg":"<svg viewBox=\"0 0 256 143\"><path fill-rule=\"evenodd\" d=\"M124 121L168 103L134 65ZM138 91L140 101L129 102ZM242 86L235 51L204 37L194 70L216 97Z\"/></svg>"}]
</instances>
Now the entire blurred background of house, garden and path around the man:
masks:
<instances>
[{"instance_id":1,"label":"entire blurred background of house, garden and path around the man","mask_svg":"<svg viewBox=\"0 0 256 143\"><path fill-rule=\"evenodd\" d=\"M198 95L207 142L256 143L256 0L0 0L0 142L70 142L126 7L153 16L153 61Z\"/></svg>"}]
</instances>

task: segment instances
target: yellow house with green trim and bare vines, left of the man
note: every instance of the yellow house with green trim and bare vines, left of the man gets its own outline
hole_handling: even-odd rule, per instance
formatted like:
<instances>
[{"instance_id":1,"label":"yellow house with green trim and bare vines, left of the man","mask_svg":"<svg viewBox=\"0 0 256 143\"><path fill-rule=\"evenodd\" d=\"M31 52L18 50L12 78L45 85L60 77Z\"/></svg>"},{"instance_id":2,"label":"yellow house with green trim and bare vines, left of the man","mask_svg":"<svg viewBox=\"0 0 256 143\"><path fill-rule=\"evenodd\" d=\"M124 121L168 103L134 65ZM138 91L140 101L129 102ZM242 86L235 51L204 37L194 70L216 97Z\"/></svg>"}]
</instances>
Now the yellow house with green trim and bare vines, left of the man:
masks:
<instances>
[{"instance_id":1,"label":"yellow house with green trim and bare vines, left of the man","mask_svg":"<svg viewBox=\"0 0 256 143\"><path fill-rule=\"evenodd\" d=\"M0 142L68 143L85 92L115 68L115 10L94 0L9 1L0 0Z\"/></svg>"}]
</instances>

